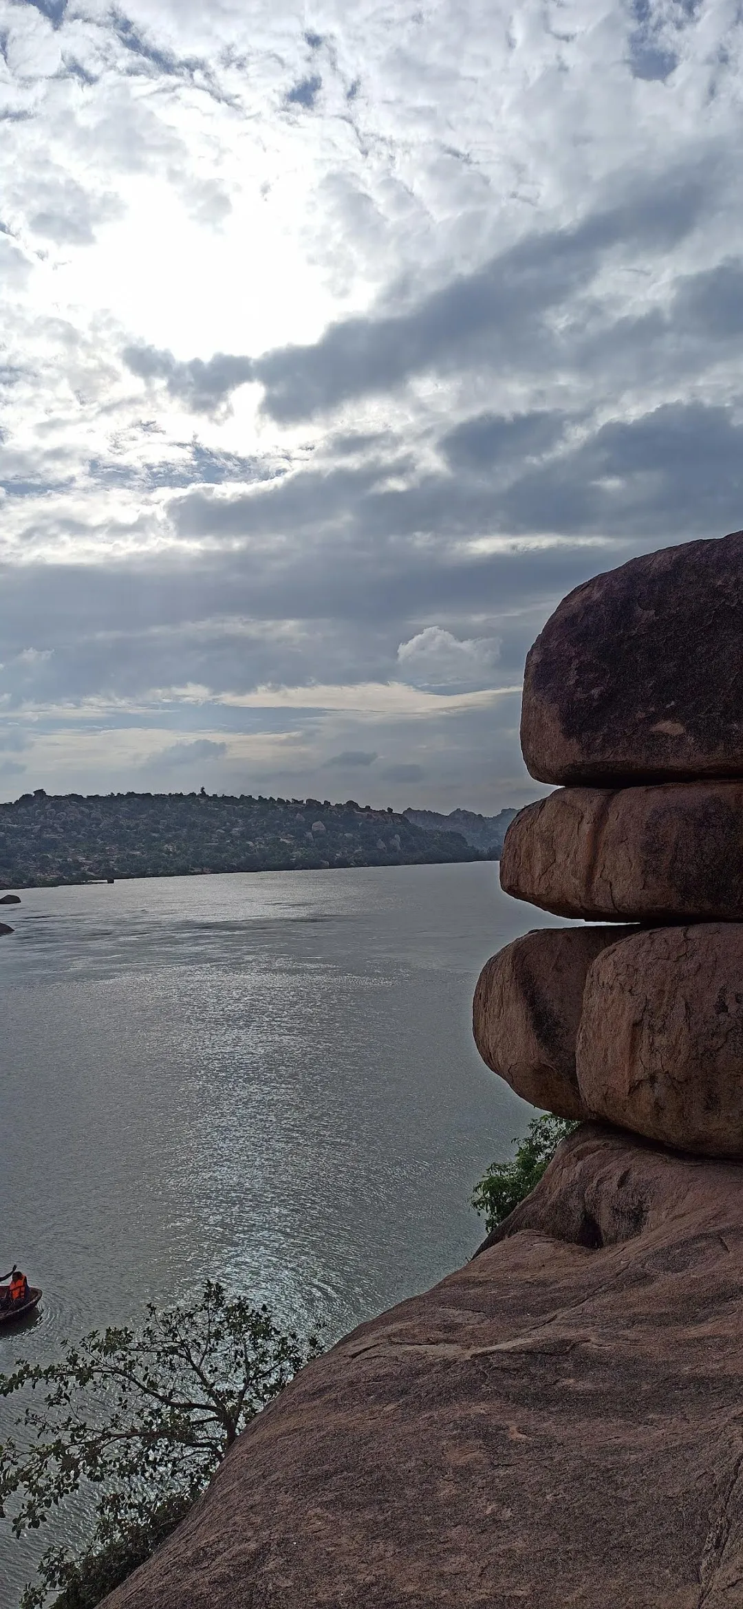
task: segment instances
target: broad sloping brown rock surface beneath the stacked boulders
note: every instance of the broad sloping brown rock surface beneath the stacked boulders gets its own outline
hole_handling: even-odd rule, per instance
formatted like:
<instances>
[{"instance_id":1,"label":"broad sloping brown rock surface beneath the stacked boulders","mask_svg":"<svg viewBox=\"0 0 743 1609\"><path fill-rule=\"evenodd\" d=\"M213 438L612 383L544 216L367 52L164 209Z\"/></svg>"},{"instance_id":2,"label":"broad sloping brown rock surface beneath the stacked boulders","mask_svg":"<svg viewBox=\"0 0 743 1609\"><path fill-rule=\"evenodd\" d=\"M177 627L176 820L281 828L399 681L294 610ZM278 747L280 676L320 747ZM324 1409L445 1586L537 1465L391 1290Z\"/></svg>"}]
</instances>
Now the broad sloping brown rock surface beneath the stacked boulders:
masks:
<instances>
[{"instance_id":1,"label":"broad sloping brown rock surface beneath the stacked boulders","mask_svg":"<svg viewBox=\"0 0 743 1609\"><path fill-rule=\"evenodd\" d=\"M589 1125L518 1213L312 1363L108 1609L740 1609L743 1168Z\"/></svg>"}]
</instances>

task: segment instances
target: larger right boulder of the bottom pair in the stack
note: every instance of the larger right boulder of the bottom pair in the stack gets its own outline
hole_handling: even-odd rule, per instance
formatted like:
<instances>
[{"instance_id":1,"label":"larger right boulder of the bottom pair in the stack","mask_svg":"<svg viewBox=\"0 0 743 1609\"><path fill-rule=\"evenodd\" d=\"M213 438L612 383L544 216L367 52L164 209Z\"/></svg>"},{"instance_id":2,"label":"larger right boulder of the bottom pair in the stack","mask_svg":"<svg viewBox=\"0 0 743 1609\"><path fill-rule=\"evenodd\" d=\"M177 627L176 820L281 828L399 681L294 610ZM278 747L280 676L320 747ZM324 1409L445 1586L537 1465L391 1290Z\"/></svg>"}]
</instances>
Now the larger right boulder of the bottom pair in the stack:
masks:
<instances>
[{"instance_id":1,"label":"larger right boulder of the bottom pair in the stack","mask_svg":"<svg viewBox=\"0 0 743 1609\"><path fill-rule=\"evenodd\" d=\"M658 927L605 949L576 1049L590 1112L708 1157L743 1157L743 924Z\"/></svg>"}]
</instances>

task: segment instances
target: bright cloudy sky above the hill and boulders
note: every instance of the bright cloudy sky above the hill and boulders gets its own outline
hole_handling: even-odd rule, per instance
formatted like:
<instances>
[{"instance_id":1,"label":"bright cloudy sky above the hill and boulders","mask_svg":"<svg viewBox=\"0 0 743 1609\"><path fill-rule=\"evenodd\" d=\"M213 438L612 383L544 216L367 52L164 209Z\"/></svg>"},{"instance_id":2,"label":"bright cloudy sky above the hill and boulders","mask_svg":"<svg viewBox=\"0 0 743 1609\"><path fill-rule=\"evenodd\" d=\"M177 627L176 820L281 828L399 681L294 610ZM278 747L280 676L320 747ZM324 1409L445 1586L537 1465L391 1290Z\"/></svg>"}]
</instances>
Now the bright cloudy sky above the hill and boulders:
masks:
<instances>
[{"instance_id":1,"label":"bright cloudy sky above the hill and boulders","mask_svg":"<svg viewBox=\"0 0 743 1609\"><path fill-rule=\"evenodd\" d=\"M743 526L740 0L0 0L0 798L542 790Z\"/></svg>"}]
</instances>

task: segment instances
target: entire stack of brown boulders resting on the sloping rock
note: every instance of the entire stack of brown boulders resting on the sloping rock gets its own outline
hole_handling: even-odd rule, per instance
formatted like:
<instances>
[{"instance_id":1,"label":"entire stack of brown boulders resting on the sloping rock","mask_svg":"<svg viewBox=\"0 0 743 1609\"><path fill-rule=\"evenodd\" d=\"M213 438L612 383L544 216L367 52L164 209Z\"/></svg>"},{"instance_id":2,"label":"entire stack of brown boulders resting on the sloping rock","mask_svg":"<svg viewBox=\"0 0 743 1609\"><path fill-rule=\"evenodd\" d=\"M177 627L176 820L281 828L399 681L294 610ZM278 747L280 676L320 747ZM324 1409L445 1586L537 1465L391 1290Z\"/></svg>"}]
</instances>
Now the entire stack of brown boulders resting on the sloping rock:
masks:
<instances>
[{"instance_id":1,"label":"entire stack of brown boulders resting on the sloping rock","mask_svg":"<svg viewBox=\"0 0 743 1609\"><path fill-rule=\"evenodd\" d=\"M598 925L487 962L481 1056L560 1117L743 1158L743 531L571 592L521 747L558 790L508 827L502 887Z\"/></svg>"}]
</instances>

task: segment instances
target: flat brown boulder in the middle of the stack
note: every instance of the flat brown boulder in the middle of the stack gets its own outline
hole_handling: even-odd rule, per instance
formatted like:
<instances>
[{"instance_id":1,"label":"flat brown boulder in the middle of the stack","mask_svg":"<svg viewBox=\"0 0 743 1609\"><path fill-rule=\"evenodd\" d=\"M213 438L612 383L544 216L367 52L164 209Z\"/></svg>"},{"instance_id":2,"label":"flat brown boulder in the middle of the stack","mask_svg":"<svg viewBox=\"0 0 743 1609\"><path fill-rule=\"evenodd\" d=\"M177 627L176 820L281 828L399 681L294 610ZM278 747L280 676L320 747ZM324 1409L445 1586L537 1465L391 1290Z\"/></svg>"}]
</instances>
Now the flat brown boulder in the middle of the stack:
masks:
<instances>
[{"instance_id":1,"label":"flat brown boulder in the middle of the stack","mask_svg":"<svg viewBox=\"0 0 743 1609\"><path fill-rule=\"evenodd\" d=\"M500 883L589 922L740 922L743 782L560 788L508 827Z\"/></svg>"}]
</instances>

